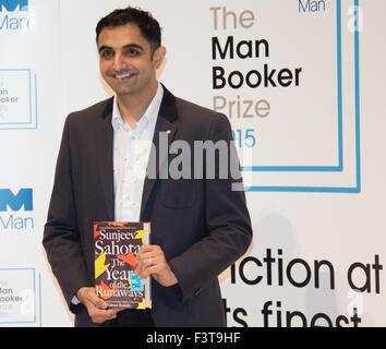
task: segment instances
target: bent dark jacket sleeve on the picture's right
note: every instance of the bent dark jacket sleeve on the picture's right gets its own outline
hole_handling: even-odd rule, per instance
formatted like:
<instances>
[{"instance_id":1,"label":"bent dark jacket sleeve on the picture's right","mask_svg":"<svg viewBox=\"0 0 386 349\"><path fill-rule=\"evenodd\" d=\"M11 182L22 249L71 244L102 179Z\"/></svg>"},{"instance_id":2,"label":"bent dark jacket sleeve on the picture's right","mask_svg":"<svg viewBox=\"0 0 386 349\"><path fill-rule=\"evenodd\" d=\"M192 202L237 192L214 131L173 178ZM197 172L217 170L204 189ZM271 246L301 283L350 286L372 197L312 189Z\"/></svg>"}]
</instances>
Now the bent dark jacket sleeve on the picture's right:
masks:
<instances>
[{"instance_id":1,"label":"bent dark jacket sleeve on the picture's right","mask_svg":"<svg viewBox=\"0 0 386 349\"><path fill-rule=\"evenodd\" d=\"M227 141L233 149L230 152L228 164L236 160L237 171L239 171L234 144L230 142L232 135L228 118L222 115L216 116L210 127L209 139L214 142ZM208 281L217 278L220 273L241 257L252 240L245 193L243 190L232 190L234 182L242 185L241 176L239 180L233 180L230 177L230 168L228 168L228 178L218 179L219 164L217 160L218 158L216 159L216 179L205 179L207 236L183 254L169 261L182 290L182 301L198 294ZM234 176L233 168L234 177L237 176Z\"/></svg>"}]
</instances>

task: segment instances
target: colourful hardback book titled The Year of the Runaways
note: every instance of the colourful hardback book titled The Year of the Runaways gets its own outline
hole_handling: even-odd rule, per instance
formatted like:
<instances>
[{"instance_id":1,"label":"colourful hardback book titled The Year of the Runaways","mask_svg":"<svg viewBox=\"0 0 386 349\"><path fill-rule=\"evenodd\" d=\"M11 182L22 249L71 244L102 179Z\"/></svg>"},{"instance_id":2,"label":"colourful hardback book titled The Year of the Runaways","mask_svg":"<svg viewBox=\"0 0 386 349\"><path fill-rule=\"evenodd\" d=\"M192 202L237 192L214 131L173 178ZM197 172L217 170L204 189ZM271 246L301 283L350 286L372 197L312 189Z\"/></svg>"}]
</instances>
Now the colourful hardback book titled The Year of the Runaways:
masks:
<instances>
[{"instance_id":1,"label":"colourful hardback book titled The Year of the Runaways","mask_svg":"<svg viewBox=\"0 0 386 349\"><path fill-rule=\"evenodd\" d=\"M134 274L136 254L149 243L149 222L94 222L95 288L109 308L152 308L150 278Z\"/></svg>"}]
</instances>

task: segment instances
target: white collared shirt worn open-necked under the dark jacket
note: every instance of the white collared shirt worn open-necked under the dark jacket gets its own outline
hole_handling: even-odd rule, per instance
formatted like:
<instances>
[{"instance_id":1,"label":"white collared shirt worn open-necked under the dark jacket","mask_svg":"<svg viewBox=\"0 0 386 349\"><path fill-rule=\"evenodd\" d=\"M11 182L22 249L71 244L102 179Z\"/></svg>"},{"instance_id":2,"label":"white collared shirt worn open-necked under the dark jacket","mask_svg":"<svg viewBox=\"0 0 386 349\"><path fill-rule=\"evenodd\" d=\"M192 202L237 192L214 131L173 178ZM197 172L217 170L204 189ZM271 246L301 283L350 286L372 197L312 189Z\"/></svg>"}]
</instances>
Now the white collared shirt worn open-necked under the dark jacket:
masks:
<instances>
[{"instance_id":1,"label":"white collared shirt worn open-necked under the dark jacket","mask_svg":"<svg viewBox=\"0 0 386 349\"><path fill-rule=\"evenodd\" d=\"M116 221L140 220L146 167L162 97L164 88L158 83L156 95L134 130L123 121L114 97L111 123Z\"/></svg>"}]
</instances>

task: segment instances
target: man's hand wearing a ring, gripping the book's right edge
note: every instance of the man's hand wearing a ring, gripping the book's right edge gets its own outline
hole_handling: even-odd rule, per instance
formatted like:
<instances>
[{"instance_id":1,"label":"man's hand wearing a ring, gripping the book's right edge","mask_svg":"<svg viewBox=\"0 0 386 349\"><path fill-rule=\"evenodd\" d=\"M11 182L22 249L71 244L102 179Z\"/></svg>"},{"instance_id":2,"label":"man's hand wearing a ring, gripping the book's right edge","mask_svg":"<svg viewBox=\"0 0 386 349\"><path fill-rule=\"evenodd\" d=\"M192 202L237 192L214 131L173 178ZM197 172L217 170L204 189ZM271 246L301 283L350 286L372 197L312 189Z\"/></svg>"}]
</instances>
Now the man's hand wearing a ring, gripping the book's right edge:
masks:
<instances>
[{"instance_id":1,"label":"man's hand wearing a ring, gripping the book's right edge","mask_svg":"<svg viewBox=\"0 0 386 349\"><path fill-rule=\"evenodd\" d=\"M154 244L144 244L136 255L134 273L140 277L152 276L158 284L169 287L178 284L174 273L165 260L164 251Z\"/></svg>"}]
</instances>

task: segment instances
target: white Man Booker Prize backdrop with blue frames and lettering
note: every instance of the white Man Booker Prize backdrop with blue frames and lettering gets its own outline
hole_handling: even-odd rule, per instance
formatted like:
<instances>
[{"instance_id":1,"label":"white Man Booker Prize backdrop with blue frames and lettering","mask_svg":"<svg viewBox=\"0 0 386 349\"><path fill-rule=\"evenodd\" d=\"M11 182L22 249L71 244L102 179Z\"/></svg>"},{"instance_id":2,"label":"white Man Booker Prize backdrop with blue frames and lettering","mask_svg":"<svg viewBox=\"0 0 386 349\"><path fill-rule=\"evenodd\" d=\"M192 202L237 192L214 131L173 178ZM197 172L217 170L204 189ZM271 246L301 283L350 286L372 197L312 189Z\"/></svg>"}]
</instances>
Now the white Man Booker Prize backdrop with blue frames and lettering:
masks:
<instances>
[{"instance_id":1,"label":"white Man Booker Prize backdrop with blue frames and lettering","mask_svg":"<svg viewBox=\"0 0 386 349\"><path fill-rule=\"evenodd\" d=\"M0 1L0 326L72 326L43 229L65 117L111 95L96 23L126 4ZM232 123L254 239L220 276L228 325L385 326L386 3L130 4L164 28L159 80Z\"/></svg>"}]
</instances>

